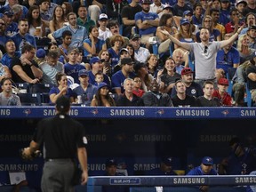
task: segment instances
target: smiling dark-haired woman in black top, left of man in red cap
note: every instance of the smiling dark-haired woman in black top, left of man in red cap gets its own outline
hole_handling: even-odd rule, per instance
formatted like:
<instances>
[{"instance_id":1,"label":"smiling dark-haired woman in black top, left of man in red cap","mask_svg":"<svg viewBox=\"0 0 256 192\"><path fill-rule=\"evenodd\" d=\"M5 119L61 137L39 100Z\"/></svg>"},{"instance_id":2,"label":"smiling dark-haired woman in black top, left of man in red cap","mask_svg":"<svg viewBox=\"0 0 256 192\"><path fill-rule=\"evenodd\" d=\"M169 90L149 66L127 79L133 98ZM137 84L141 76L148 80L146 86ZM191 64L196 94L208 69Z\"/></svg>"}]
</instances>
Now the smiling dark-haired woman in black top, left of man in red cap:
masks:
<instances>
[{"instance_id":1,"label":"smiling dark-haired woman in black top, left of man in red cap","mask_svg":"<svg viewBox=\"0 0 256 192\"><path fill-rule=\"evenodd\" d=\"M164 69L158 75L160 74L160 92L171 93L175 82L180 79L180 74L175 72L175 61L171 57L165 60Z\"/></svg>"}]
</instances>

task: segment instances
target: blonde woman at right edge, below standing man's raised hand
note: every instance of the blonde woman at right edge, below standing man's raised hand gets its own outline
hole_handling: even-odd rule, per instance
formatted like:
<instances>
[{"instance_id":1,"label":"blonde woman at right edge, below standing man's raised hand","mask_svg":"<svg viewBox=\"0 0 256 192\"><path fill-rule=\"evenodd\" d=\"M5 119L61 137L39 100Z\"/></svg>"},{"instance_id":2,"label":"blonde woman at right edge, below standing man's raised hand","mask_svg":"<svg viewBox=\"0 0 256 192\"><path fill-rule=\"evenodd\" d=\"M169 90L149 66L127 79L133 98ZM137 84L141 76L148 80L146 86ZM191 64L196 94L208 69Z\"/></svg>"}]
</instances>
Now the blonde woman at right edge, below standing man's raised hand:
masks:
<instances>
[{"instance_id":1,"label":"blonde woman at right edge, below standing man's raised hand","mask_svg":"<svg viewBox=\"0 0 256 192\"><path fill-rule=\"evenodd\" d=\"M256 50L249 47L249 37L245 34L238 38L237 51L240 56L240 63L244 63L246 60L252 60L255 57Z\"/></svg>"}]
</instances>

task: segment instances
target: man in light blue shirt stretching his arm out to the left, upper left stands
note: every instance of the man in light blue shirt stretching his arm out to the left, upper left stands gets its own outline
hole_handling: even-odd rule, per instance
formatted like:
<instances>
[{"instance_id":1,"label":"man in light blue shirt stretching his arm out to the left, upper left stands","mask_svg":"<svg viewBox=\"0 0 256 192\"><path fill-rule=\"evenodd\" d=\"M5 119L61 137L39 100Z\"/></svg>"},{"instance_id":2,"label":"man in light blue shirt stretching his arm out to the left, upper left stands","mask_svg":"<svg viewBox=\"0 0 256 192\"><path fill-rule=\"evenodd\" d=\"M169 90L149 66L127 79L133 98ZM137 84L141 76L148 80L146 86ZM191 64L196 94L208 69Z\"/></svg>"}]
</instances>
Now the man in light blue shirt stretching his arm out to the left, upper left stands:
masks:
<instances>
[{"instance_id":1,"label":"man in light blue shirt stretching his arm out to the left, upper left stands","mask_svg":"<svg viewBox=\"0 0 256 192\"><path fill-rule=\"evenodd\" d=\"M54 31L52 34L49 34L48 37L55 42L56 39L62 36L62 33L65 30L68 30L72 33L72 40L70 46L72 47L83 47L84 39L88 37L86 28L83 26L79 26L76 23L76 13L69 12L68 16L68 26L58 29Z\"/></svg>"}]
</instances>

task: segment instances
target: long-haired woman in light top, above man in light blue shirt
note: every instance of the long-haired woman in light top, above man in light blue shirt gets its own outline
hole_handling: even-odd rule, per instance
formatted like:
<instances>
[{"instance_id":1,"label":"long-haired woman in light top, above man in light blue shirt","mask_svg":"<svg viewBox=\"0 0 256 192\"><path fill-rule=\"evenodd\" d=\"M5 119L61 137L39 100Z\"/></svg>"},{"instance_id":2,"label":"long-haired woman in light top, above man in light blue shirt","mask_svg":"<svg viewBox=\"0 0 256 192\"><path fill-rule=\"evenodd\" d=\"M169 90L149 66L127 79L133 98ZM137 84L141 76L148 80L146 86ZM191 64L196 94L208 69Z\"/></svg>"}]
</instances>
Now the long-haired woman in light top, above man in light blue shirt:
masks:
<instances>
[{"instance_id":1,"label":"long-haired woman in light top, above man in light blue shirt","mask_svg":"<svg viewBox=\"0 0 256 192\"><path fill-rule=\"evenodd\" d=\"M64 10L60 5L57 5L54 8L52 20L49 22L49 28L51 33L58 30L59 28L63 28L65 22Z\"/></svg>"}]
</instances>

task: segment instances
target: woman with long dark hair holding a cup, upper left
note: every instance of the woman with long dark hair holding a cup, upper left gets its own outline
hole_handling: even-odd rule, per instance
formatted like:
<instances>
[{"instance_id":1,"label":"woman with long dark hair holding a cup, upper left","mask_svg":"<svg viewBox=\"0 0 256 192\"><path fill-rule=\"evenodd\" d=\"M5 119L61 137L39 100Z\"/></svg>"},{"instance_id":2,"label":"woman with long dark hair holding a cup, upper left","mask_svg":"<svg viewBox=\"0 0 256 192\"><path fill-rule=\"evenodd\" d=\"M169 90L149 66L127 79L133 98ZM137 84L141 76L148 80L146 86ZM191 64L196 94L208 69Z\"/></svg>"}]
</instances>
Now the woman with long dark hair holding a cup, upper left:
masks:
<instances>
[{"instance_id":1,"label":"woman with long dark hair holding a cup, upper left","mask_svg":"<svg viewBox=\"0 0 256 192\"><path fill-rule=\"evenodd\" d=\"M31 36L44 37L46 35L45 28L47 27L40 17L40 10L37 5L32 5L28 9L28 33Z\"/></svg>"}]
</instances>

